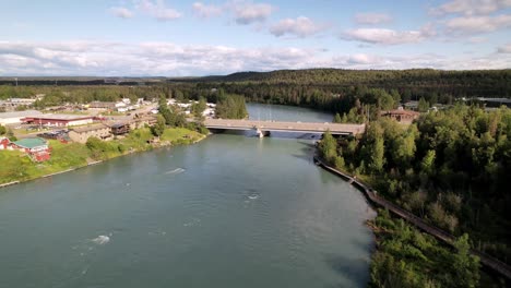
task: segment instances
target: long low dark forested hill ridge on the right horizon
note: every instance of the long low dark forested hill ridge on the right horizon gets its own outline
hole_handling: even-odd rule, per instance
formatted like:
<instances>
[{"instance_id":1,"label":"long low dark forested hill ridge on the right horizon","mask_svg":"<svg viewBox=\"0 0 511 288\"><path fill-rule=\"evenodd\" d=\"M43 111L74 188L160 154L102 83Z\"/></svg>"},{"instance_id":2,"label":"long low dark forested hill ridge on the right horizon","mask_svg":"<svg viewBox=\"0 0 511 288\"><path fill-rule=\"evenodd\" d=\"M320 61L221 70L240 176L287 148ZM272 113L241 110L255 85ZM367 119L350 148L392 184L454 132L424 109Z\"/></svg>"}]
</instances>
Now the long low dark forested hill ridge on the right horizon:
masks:
<instances>
[{"instance_id":1,"label":"long low dark forested hill ridge on the right horizon","mask_svg":"<svg viewBox=\"0 0 511 288\"><path fill-rule=\"evenodd\" d=\"M511 97L511 69L445 71L433 69L411 70L343 70L305 69L277 70L272 72L238 72L229 75L205 77L168 79L171 83L201 83L203 87L224 86L227 91L248 95L265 86L300 86L318 88L334 94L350 87L408 91L415 95L439 94L454 97ZM255 86L254 86L255 85ZM266 89L268 91L268 89ZM275 89L274 89L275 91Z\"/></svg>"}]
</instances>

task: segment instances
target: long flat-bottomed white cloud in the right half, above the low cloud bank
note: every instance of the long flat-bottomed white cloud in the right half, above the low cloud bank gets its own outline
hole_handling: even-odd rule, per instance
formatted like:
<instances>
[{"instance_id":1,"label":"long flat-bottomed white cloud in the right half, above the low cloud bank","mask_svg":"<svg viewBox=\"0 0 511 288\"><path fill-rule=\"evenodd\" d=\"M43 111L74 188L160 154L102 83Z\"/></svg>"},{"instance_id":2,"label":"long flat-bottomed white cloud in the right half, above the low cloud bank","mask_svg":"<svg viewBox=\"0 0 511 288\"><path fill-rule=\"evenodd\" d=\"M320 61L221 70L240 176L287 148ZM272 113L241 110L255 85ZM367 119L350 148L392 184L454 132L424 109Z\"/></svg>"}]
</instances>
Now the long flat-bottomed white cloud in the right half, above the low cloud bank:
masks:
<instances>
[{"instance_id":1,"label":"long flat-bottomed white cloud in the right half, above the low cloud bank","mask_svg":"<svg viewBox=\"0 0 511 288\"><path fill-rule=\"evenodd\" d=\"M393 31L385 28L357 28L345 32L341 38L381 45L420 43L436 35L431 25L420 31Z\"/></svg>"}]
</instances>

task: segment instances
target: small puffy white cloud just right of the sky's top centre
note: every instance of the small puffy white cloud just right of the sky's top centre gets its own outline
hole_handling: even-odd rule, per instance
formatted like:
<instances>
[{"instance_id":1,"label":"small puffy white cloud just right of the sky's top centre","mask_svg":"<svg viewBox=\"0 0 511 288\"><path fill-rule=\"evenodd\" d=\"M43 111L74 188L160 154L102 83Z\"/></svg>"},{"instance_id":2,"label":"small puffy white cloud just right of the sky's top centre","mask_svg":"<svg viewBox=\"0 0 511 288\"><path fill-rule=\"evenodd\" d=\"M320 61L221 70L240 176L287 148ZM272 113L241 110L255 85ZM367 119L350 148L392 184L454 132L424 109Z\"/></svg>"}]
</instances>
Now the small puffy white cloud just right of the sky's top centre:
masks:
<instances>
[{"instance_id":1,"label":"small puffy white cloud just right of the sky's top centre","mask_svg":"<svg viewBox=\"0 0 511 288\"><path fill-rule=\"evenodd\" d=\"M276 23L270 28L270 32L277 37L283 36L285 34L290 34L298 37L307 37L314 35L325 28L328 28L328 26L324 24L317 24L308 17L299 16L296 20L281 20L278 23Z\"/></svg>"}]
</instances>

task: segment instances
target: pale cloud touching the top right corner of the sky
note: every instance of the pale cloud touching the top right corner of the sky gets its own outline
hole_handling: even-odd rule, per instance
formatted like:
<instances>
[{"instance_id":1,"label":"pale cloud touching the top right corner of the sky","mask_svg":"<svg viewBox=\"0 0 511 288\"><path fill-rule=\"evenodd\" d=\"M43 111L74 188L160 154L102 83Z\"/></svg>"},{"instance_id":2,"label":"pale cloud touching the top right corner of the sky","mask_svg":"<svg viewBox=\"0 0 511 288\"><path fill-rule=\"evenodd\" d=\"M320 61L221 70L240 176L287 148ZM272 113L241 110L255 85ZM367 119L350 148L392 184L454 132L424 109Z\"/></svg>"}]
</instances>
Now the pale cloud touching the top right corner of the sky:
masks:
<instances>
[{"instance_id":1,"label":"pale cloud touching the top right corner of the sky","mask_svg":"<svg viewBox=\"0 0 511 288\"><path fill-rule=\"evenodd\" d=\"M451 0L431 9L431 13L436 15L488 15L507 8L511 8L511 0Z\"/></svg>"}]
</instances>

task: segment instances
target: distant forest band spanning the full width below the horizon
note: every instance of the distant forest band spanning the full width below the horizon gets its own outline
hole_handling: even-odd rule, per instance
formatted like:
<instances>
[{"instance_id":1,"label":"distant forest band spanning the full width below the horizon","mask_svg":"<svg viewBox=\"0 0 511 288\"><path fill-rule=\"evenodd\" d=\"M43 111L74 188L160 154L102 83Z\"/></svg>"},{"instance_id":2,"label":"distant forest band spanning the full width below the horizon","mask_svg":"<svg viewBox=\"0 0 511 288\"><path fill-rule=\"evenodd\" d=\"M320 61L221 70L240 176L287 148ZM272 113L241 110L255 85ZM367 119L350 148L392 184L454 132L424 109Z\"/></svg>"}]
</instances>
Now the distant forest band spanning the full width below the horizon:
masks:
<instances>
[{"instance_id":1,"label":"distant forest band spanning the full width below the horizon","mask_svg":"<svg viewBox=\"0 0 511 288\"><path fill-rule=\"evenodd\" d=\"M158 99L163 95L194 100L204 97L216 103L215 91L223 89L226 94L241 95L247 101L310 107L343 115L356 106L357 100L384 109L392 106L391 101L418 101L421 98L428 106L451 105L463 97L511 98L511 70L281 70L225 76L147 79L144 85L139 82L114 85L88 79L62 79L55 85L56 80L20 80L22 85L17 87L12 81L3 82L0 99L46 94L38 105L52 106L111 101L120 97Z\"/></svg>"}]
</instances>

